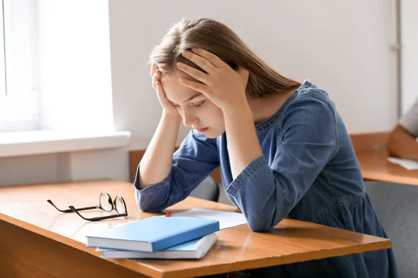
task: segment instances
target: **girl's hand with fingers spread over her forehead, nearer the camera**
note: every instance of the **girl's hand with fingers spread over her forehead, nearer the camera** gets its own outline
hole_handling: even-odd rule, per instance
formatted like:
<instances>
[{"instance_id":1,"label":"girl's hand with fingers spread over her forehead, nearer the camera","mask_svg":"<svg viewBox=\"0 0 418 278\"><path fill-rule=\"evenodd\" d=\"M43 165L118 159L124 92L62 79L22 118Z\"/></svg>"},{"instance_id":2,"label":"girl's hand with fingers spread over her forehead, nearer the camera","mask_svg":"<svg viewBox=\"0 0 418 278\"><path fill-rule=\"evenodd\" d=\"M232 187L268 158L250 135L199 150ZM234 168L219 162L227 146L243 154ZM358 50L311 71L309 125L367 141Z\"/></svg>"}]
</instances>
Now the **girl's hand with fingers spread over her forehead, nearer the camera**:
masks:
<instances>
[{"instance_id":1,"label":"girl's hand with fingers spread over her forehead, nearer the camera","mask_svg":"<svg viewBox=\"0 0 418 278\"><path fill-rule=\"evenodd\" d=\"M180 83L201 92L222 111L239 106L243 101L247 103L245 95L249 78L247 70L240 67L235 71L218 56L203 49L185 50L182 55L206 73L179 62L178 69L197 80L192 81L182 77Z\"/></svg>"}]
</instances>

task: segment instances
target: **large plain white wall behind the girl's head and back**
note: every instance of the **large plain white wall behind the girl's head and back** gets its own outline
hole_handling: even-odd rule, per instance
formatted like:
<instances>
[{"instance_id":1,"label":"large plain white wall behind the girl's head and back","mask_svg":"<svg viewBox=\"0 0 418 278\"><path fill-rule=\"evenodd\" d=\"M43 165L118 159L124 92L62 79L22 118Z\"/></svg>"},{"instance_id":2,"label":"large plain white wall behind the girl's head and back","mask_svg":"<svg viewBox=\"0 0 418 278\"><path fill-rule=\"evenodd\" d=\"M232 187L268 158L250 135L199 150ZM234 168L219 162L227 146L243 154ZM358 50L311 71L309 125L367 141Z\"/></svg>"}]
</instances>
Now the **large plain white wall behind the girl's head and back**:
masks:
<instances>
[{"instance_id":1,"label":"large plain white wall behind the girl's head and back","mask_svg":"<svg viewBox=\"0 0 418 278\"><path fill-rule=\"evenodd\" d=\"M118 130L132 131L132 149L148 145L160 119L148 54L182 16L224 22L277 71L327 89L350 133L396 123L392 1L187 0L162 7L110 0L109 15L114 119Z\"/></svg>"}]
</instances>

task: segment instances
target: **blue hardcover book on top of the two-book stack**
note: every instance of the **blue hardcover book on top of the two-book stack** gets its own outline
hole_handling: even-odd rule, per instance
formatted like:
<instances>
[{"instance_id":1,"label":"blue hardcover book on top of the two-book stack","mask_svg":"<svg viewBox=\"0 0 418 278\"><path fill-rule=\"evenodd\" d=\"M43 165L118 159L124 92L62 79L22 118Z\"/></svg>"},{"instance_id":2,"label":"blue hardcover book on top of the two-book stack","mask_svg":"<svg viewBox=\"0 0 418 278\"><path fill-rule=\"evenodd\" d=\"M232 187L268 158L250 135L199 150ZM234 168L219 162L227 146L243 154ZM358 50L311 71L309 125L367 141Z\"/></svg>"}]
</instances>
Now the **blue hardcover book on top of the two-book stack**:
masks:
<instances>
[{"instance_id":1,"label":"blue hardcover book on top of the two-book stack","mask_svg":"<svg viewBox=\"0 0 418 278\"><path fill-rule=\"evenodd\" d=\"M86 235L88 247L157 252L219 231L219 221L152 216Z\"/></svg>"}]
</instances>

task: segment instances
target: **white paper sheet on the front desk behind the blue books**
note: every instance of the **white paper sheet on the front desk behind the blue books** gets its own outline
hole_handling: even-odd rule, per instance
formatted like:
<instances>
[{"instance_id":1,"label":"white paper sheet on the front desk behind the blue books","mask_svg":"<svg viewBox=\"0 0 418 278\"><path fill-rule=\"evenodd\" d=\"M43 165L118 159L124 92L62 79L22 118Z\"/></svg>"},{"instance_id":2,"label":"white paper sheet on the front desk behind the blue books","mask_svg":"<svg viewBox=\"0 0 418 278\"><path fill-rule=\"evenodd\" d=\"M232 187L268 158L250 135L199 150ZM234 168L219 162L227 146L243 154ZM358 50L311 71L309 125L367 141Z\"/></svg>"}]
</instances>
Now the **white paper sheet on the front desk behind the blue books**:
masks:
<instances>
[{"instance_id":1,"label":"white paper sheet on the front desk behind the blue books","mask_svg":"<svg viewBox=\"0 0 418 278\"><path fill-rule=\"evenodd\" d=\"M182 211L180 213L173 213L171 217L187 217L187 218L201 218L212 219L219 221L219 228L226 229L242 224L247 224L245 216L242 213L234 213L231 211L215 211L212 209L192 208L189 211Z\"/></svg>"}]
</instances>

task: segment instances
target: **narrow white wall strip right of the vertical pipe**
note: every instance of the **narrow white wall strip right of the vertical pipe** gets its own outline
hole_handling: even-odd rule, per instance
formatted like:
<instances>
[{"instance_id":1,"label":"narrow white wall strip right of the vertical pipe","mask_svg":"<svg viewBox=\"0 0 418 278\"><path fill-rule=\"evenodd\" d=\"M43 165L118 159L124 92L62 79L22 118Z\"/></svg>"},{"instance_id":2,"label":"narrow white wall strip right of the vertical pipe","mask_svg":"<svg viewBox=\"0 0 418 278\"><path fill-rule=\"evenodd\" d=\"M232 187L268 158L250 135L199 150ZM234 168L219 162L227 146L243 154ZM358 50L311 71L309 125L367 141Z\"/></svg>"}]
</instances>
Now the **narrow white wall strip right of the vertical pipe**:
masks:
<instances>
[{"instance_id":1,"label":"narrow white wall strip right of the vertical pipe","mask_svg":"<svg viewBox=\"0 0 418 278\"><path fill-rule=\"evenodd\" d=\"M418 1L401 1L402 37L402 112L418 97Z\"/></svg>"}]
</instances>

